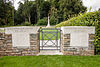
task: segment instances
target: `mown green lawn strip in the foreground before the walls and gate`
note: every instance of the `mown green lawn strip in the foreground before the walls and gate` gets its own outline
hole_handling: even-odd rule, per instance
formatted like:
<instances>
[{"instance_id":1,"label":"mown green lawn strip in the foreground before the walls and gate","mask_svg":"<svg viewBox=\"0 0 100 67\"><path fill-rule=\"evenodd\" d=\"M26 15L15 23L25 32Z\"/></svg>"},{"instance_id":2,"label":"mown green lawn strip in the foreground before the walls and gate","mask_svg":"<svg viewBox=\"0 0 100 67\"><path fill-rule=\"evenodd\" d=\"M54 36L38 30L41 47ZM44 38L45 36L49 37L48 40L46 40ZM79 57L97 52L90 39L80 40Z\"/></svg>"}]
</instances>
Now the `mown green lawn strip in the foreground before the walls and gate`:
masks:
<instances>
[{"instance_id":1,"label":"mown green lawn strip in the foreground before the walls and gate","mask_svg":"<svg viewBox=\"0 0 100 67\"><path fill-rule=\"evenodd\" d=\"M0 67L100 67L100 56L5 56Z\"/></svg>"}]
</instances>

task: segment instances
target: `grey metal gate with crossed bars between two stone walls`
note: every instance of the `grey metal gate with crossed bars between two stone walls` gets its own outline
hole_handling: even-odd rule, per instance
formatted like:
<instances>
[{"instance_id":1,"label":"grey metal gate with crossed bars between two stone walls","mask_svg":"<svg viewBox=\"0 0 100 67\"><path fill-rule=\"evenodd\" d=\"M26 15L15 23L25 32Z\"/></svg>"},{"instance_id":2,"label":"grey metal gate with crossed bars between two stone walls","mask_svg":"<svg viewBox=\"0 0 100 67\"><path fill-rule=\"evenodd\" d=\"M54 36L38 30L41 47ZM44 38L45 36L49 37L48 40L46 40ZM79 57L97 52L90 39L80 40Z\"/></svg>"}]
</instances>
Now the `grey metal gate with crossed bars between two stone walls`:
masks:
<instances>
[{"instance_id":1,"label":"grey metal gate with crossed bars between two stone walls","mask_svg":"<svg viewBox=\"0 0 100 67\"><path fill-rule=\"evenodd\" d=\"M57 28L41 28L39 30L40 50L60 50L61 30Z\"/></svg>"}]
</instances>

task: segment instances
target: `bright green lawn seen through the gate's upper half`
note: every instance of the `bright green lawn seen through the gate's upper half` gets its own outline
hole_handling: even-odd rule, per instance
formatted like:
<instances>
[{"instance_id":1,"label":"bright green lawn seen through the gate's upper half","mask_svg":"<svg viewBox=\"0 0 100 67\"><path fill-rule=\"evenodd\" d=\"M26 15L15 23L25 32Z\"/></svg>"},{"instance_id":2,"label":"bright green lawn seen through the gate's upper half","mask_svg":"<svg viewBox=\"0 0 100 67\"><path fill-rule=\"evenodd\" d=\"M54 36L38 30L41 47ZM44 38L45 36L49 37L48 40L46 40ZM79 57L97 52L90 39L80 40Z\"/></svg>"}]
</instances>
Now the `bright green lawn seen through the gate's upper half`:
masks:
<instances>
[{"instance_id":1,"label":"bright green lawn seen through the gate's upper half","mask_svg":"<svg viewBox=\"0 0 100 67\"><path fill-rule=\"evenodd\" d=\"M60 32L57 30L42 30L44 33L42 34L42 32L40 32L40 40L56 40L56 39L60 39ZM58 35L57 35L58 34Z\"/></svg>"}]
</instances>

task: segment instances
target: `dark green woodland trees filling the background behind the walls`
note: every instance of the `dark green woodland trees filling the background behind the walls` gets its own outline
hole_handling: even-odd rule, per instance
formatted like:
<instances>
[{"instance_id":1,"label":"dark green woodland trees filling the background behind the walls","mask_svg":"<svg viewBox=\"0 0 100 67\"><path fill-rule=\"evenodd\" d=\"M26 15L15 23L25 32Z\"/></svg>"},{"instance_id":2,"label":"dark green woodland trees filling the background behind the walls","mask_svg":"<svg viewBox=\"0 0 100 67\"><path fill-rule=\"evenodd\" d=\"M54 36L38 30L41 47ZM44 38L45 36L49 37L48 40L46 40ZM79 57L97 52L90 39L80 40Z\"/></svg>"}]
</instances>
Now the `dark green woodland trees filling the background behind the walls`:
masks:
<instances>
[{"instance_id":1,"label":"dark green woodland trees filling the background behind the walls","mask_svg":"<svg viewBox=\"0 0 100 67\"><path fill-rule=\"evenodd\" d=\"M0 0L0 25L25 25L25 22L35 25L46 25L45 18L50 15L51 25L67 20L73 15L84 13L86 7L81 0L23 0L19 8L14 9L15 0ZM24 24L25 23L25 24ZM41 24L42 23L42 24Z\"/></svg>"}]
</instances>

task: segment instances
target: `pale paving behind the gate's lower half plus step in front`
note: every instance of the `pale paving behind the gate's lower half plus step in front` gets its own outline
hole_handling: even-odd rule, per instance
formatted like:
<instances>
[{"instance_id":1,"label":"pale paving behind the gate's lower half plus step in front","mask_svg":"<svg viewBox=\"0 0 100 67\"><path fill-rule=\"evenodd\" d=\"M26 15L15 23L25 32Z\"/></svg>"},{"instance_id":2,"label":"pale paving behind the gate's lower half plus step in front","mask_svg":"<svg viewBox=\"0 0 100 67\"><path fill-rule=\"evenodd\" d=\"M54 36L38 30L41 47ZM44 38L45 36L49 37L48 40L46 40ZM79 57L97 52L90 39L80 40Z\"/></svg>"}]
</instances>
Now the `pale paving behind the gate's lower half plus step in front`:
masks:
<instances>
[{"instance_id":1,"label":"pale paving behind the gate's lower half plus step in front","mask_svg":"<svg viewBox=\"0 0 100 67\"><path fill-rule=\"evenodd\" d=\"M43 44L45 44L48 40L44 40ZM56 40L52 40L52 42L56 43ZM54 46L54 44L51 41L48 41L45 46ZM42 46L42 40L40 40L40 46ZM58 40L58 46L60 46L60 40ZM40 47L42 49L42 47ZM43 49L46 50L40 50L40 53L38 55L63 55L60 50L52 50L57 49L57 47L43 47ZM60 47L58 47L60 49Z\"/></svg>"}]
</instances>

